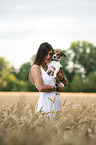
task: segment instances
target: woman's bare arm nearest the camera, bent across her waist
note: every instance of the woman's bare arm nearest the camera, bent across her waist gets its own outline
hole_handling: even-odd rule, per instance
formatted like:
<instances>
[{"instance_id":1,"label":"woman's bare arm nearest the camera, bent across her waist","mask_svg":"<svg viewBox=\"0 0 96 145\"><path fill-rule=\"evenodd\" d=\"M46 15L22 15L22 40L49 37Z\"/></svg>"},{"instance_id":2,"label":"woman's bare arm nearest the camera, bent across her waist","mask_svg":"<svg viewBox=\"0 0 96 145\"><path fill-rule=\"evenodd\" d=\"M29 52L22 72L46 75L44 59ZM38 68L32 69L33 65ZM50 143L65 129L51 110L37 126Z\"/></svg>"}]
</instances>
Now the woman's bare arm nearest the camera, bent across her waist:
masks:
<instances>
[{"instance_id":1,"label":"woman's bare arm nearest the camera, bent across her waist","mask_svg":"<svg viewBox=\"0 0 96 145\"><path fill-rule=\"evenodd\" d=\"M40 92L54 92L54 91L56 91L56 86L49 86L49 85L43 84L41 68L39 65L34 64L31 67L30 80L34 81L38 91L40 91ZM60 86L60 88L61 88L61 86Z\"/></svg>"}]
</instances>

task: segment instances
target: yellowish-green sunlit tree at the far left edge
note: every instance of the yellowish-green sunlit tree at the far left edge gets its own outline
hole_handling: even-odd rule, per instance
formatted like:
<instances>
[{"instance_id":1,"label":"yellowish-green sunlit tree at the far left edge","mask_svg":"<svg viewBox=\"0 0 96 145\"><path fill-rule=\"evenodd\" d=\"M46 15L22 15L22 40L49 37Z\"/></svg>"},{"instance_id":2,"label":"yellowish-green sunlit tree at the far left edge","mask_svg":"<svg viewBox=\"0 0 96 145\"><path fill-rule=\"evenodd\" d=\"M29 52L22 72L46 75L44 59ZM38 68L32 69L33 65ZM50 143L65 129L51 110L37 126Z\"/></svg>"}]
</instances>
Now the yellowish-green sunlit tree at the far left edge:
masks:
<instances>
[{"instance_id":1,"label":"yellowish-green sunlit tree at the far left edge","mask_svg":"<svg viewBox=\"0 0 96 145\"><path fill-rule=\"evenodd\" d=\"M12 73L14 67L5 58L0 57L0 91L24 91L26 82L18 80Z\"/></svg>"}]
</instances>

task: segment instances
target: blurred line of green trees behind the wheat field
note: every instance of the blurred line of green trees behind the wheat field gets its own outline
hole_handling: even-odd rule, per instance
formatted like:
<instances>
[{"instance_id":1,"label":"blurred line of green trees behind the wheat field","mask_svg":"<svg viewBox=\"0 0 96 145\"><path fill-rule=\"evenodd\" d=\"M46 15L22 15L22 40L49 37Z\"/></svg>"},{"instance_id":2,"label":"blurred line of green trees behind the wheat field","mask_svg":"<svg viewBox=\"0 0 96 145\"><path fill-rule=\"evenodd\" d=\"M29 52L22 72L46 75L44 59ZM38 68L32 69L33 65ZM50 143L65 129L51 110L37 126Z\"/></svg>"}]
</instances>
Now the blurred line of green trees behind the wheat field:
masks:
<instances>
[{"instance_id":1,"label":"blurred line of green trees behind the wheat field","mask_svg":"<svg viewBox=\"0 0 96 145\"><path fill-rule=\"evenodd\" d=\"M60 63L68 86L64 92L96 92L96 46L87 41L72 42L63 51L65 58ZM4 57L0 57L0 91L38 90L28 81L28 75L35 55L16 70Z\"/></svg>"}]
</instances>

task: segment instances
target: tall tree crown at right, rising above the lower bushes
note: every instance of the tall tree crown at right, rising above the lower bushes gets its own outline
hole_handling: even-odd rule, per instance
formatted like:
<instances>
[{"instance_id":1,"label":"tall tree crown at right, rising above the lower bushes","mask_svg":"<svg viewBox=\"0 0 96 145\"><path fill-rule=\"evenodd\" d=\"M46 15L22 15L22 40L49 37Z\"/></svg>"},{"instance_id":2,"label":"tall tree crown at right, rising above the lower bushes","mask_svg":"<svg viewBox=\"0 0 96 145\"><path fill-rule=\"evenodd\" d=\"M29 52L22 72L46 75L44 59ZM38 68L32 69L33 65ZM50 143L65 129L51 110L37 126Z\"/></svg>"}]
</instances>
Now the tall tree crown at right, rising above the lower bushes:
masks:
<instances>
[{"instance_id":1,"label":"tall tree crown at right, rising above the lower bushes","mask_svg":"<svg viewBox=\"0 0 96 145\"><path fill-rule=\"evenodd\" d=\"M87 41L73 42L69 48L71 61L73 62L72 72L85 74L95 72L96 47ZM83 70L83 71L82 71Z\"/></svg>"}]
</instances>

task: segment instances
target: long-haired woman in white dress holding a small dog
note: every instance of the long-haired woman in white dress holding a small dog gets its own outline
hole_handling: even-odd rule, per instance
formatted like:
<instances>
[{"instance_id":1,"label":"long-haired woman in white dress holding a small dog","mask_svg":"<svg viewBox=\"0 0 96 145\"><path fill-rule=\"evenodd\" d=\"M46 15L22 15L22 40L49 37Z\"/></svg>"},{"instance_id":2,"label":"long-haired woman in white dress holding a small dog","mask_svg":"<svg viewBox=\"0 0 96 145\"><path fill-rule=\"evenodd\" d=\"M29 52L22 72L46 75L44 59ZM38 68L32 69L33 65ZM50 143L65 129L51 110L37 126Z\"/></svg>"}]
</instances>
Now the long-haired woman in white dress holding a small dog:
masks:
<instances>
[{"instance_id":1,"label":"long-haired woman in white dress holding a small dog","mask_svg":"<svg viewBox=\"0 0 96 145\"><path fill-rule=\"evenodd\" d=\"M37 103L36 111L42 108L43 112L61 109L60 94L57 92L63 91L63 86L56 79L47 74L48 63L51 61L53 48L49 43L42 43L37 51L34 63L29 73L29 80L36 85L40 92L40 97ZM61 76L61 75L58 75ZM64 85L67 86L67 79L62 78ZM54 100L54 102L52 101ZM48 114L50 117L52 114Z\"/></svg>"}]
</instances>

